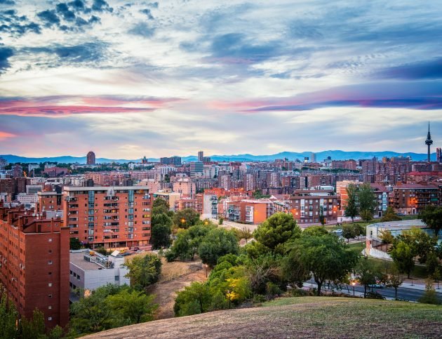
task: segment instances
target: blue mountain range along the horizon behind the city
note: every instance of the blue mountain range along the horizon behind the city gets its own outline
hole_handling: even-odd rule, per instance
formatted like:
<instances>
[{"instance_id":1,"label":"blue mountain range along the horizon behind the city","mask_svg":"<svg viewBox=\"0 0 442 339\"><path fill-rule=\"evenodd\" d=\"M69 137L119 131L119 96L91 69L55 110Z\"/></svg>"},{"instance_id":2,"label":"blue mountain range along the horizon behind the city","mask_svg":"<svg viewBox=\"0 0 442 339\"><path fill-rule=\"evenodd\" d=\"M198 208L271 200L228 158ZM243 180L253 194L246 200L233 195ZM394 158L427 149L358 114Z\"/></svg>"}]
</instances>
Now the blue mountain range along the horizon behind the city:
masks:
<instances>
[{"instance_id":1,"label":"blue mountain range along the horizon behind the city","mask_svg":"<svg viewBox=\"0 0 442 339\"><path fill-rule=\"evenodd\" d=\"M347 160L347 159L372 159L373 157L377 157L382 159L382 157L411 157L411 159L415 161L422 161L427 159L427 154L424 153L398 153L391 151L384 152L345 152L340 150L329 150L323 152L316 152L316 161L322 161L327 157L331 157L333 160ZM288 160L296 160L300 159L304 160L304 157L311 157L312 152L280 152L277 154L269 154L269 155L253 155L253 154L232 154L232 155L212 155L210 158L213 161L274 161L275 159L284 159ZM62 157L45 157L45 158L27 158L20 157L18 155L13 154L5 154L0 155L0 157L6 159L9 163L22 162L22 163L39 163L39 162L60 162L60 163L76 163L86 164L86 157L72 157L69 155L65 155ZM198 158L194 155L182 157L182 161L196 161ZM436 153L431 154L431 159L436 160ZM98 158L97 163L128 163L130 161L140 162L141 159L106 159L106 158ZM149 158L149 161L158 162L159 159Z\"/></svg>"}]
</instances>

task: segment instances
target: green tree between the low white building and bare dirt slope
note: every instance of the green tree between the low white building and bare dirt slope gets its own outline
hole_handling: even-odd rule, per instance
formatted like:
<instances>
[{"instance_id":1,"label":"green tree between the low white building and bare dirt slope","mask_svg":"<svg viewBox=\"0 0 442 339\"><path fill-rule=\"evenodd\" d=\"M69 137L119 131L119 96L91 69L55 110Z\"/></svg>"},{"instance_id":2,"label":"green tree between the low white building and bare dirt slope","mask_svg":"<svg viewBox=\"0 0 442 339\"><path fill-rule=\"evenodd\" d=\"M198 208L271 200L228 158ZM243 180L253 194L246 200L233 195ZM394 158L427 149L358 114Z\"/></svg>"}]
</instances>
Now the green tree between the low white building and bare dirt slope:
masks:
<instances>
[{"instance_id":1,"label":"green tree between the low white building and bare dirt slope","mask_svg":"<svg viewBox=\"0 0 442 339\"><path fill-rule=\"evenodd\" d=\"M130 279L132 286L138 286L138 288L145 288L156 283L161 273L161 259L150 253L144 256L135 256L125 265L129 269L126 277Z\"/></svg>"}]
</instances>

